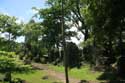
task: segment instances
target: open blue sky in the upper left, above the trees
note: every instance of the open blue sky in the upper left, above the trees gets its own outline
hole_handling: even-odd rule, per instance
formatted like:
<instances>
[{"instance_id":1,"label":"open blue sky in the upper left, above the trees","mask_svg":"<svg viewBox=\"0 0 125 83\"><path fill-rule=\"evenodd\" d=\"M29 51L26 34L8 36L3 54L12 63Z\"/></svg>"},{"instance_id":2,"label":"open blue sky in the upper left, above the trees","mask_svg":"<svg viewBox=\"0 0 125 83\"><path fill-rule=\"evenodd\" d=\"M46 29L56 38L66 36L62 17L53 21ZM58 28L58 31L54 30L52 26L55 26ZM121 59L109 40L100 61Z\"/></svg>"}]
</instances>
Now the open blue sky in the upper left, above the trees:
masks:
<instances>
[{"instance_id":1,"label":"open blue sky in the upper left, above the trees","mask_svg":"<svg viewBox=\"0 0 125 83\"><path fill-rule=\"evenodd\" d=\"M27 22L33 15L32 7L45 8L45 0L0 0L0 12Z\"/></svg>"}]
</instances>

